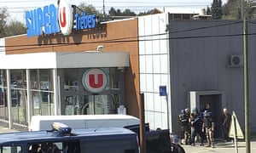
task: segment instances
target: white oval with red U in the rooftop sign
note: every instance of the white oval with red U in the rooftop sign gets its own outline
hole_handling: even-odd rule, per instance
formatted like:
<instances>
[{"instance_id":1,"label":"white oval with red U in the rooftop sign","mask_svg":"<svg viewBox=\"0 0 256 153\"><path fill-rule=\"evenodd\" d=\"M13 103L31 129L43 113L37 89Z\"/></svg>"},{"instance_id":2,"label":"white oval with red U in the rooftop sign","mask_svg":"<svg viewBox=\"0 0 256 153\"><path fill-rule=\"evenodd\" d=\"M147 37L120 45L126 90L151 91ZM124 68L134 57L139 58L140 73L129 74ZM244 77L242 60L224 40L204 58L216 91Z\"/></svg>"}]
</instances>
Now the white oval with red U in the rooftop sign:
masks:
<instances>
[{"instance_id":1,"label":"white oval with red U in the rooftop sign","mask_svg":"<svg viewBox=\"0 0 256 153\"><path fill-rule=\"evenodd\" d=\"M60 0L59 2L59 26L63 35L69 35L73 29L73 9L69 0Z\"/></svg>"}]
</instances>

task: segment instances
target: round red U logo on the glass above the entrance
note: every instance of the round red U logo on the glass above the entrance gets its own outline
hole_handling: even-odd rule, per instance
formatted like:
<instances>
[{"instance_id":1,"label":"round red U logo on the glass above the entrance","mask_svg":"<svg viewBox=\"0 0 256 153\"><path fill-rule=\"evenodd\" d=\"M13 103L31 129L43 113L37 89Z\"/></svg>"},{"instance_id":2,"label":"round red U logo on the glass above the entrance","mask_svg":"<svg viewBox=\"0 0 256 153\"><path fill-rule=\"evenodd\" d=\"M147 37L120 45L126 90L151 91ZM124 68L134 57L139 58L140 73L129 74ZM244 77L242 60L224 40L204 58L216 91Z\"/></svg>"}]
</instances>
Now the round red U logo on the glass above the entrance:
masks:
<instances>
[{"instance_id":1,"label":"round red U logo on the glass above the entrance","mask_svg":"<svg viewBox=\"0 0 256 153\"><path fill-rule=\"evenodd\" d=\"M91 93L102 92L108 86L108 75L102 69L90 69L84 72L84 88Z\"/></svg>"}]
</instances>

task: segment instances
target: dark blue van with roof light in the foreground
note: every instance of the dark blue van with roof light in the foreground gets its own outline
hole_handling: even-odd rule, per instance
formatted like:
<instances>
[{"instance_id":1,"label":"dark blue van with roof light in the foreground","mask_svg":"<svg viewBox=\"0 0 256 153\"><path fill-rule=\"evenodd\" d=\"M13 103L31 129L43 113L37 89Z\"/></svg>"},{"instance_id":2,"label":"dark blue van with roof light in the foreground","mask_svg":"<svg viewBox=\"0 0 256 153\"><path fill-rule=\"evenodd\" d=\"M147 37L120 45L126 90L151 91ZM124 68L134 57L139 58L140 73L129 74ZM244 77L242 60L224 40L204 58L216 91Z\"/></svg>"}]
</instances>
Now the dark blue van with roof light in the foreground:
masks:
<instances>
[{"instance_id":1,"label":"dark blue van with roof light in the foreground","mask_svg":"<svg viewBox=\"0 0 256 153\"><path fill-rule=\"evenodd\" d=\"M0 134L0 153L139 153L137 133L119 127Z\"/></svg>"}]
</instances>

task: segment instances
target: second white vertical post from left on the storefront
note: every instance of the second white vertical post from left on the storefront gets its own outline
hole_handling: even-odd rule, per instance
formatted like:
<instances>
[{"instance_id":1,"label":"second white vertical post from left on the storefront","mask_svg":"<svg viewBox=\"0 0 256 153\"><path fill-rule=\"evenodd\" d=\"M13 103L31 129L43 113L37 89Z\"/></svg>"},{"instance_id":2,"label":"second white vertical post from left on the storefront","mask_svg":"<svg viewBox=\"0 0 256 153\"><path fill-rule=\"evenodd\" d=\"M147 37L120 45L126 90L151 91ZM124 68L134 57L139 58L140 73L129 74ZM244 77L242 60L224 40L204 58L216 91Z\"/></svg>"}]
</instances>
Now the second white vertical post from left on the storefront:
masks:
<instances>
[{"instance_id":1,"label":"second white vertical post from left on the storefront","mask_svg":"<svg viewBox=\"0 0 256 153\"><path fill-rule=\"evenodd\" d=\"M26 69L26 105L27 105L27 122L28 127L30 127L30 121L32 117L32 92L30 83L30 70Z\"/></svg>"}]
</instances>

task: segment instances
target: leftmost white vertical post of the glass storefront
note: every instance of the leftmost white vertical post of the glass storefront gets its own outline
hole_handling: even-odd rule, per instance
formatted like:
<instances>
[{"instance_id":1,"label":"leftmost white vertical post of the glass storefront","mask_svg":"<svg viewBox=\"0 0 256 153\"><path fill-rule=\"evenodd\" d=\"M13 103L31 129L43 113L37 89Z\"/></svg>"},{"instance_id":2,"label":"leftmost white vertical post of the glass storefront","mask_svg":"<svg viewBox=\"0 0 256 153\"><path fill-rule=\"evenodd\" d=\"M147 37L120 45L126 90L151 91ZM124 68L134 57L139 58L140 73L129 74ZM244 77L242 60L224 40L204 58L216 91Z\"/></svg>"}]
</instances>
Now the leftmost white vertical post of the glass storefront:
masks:
<instances>
[{"instance_id":1,"label":"leftmost white vertical post of the glass storefront","mask_svg":"<svg viewBox=\"0 0 256 153\"><path fill-rule=\"evenodd\" d=\"M6 80L7 80L7 101L8 101L8 118L9 118L9 128L13 128L13 116L12 116L12 97L11 97L11 84L10 84L10 70L6 70Z\"/></svg>"}]
</instances>

